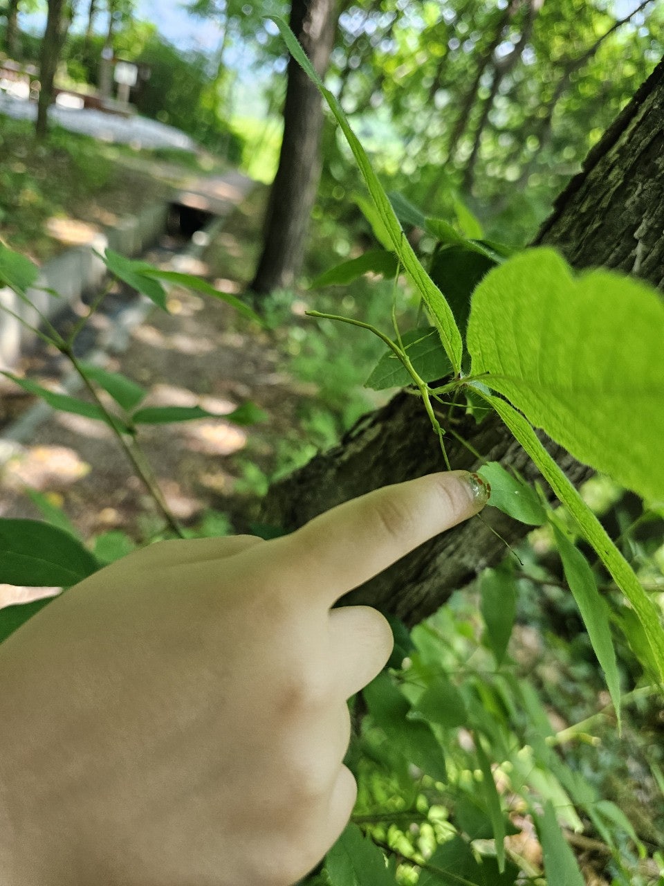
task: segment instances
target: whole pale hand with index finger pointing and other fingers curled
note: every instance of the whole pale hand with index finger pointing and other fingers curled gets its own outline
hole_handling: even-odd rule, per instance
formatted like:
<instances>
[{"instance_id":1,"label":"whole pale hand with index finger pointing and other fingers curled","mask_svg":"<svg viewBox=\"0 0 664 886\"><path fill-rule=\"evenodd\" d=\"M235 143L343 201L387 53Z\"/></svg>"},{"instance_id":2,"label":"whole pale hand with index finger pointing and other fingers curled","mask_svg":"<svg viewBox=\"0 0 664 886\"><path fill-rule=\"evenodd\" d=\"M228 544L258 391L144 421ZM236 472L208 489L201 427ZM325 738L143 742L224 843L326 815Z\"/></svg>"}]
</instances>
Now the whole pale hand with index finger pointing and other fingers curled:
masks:
<instances>
[{"instance_id":1,"label":"whole pale hand with index finger pointing and other fingers curled","mask_svg":"<svg viewBox=\"0 0 664 886\"><path fill-rule=\"evenodd\" d=\"M3 886L290 886L348 822L347 699L390 657L353 587L483 508L465 471L281 539L162 541L0 645Z\"/></svg>"}]
</instances>

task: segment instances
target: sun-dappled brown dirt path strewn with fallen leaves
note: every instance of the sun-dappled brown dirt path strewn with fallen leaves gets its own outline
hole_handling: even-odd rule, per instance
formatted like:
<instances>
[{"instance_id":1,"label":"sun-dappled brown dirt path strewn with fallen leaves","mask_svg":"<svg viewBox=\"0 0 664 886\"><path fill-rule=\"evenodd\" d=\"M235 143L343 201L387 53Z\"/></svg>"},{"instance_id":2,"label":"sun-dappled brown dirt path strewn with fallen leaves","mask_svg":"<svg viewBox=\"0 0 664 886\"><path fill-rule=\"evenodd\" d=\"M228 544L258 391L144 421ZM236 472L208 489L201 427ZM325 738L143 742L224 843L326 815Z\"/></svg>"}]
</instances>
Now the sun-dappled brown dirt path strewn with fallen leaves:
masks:
<instances>
[{"instance_id":1,"label":"sun-dappled brown dirt path strewn with fallen leaves","mask_svg":"<svg viewBox=\"0 0 664 886\"><path fill-rule=\"evenodd\" d=\"M208 276L221 290L242 291L259 248L256 204L263 196L254 195L229 217L209 251L217 267L197 261L192 273ZM252 229L255 236L247 237ZM228 268L220 267L224 255ZM237 268L243 268L244 279ZM222 417L205 418L144 425L138 435L168 508L181 525L196 526L206 511L215 509L228 514L235 531L246 532L258 500L251 489L238 492L237 478L247 462L269 469L275 441L297 424L298 404L315 392L298 385L282 368L282 355L270 332L225 303L173 289L168 304L170 315L154 307L131 330L127 350L112 354L107 369L121 371L149 391L142 406L198 404L227 414L252 400L266 411L264 424L242 427ZM63 360L54 348L41 346L24 358L17 374L52 386L58 380L53 367ZM7 417L35 401L10 395L6 386L3 390L0 401ZM91 400L88 392L76 396ZM112 403L104 391L100 396ZM7 405L11 402L13 407ZM88 540L120 529L142 543L164 526L111 429L84 416L51 412L33 439L15 447L0 467L0 516L42 519L26 487L48 494ZM0 585L0 596L3 593L6 603L7 595L18 600L27 592Z\"/></svg>"}]
</instances>

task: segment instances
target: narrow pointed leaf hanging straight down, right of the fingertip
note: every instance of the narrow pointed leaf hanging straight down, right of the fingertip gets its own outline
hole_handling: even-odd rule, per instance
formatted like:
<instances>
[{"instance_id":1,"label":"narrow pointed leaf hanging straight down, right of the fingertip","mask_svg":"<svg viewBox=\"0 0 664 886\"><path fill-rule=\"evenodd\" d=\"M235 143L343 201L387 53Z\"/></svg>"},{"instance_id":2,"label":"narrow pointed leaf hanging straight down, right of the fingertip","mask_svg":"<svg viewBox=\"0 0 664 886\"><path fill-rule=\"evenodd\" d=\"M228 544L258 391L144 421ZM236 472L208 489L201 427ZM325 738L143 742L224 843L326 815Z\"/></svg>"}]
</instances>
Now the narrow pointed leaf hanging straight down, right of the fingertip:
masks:
<instances>
[{"instance_id":1,"label":"narrow pointed leaf hanging straight down, right of the fingertip","mask_svg":"<svg viewBox=\"0 0 664 886\"><path fill-rule=\"evenodd\" d=\"M606 686L614 703L621 728L621 688L618 665L615 663L614 641L609 626L609 610L606 600L599 594L595 576L581 551L567 539L560 527L552 522L556 547L560 553L565 578L581 612L583 624L591 638L592 648L606 678Z\"/></svg>"}]
</instances>

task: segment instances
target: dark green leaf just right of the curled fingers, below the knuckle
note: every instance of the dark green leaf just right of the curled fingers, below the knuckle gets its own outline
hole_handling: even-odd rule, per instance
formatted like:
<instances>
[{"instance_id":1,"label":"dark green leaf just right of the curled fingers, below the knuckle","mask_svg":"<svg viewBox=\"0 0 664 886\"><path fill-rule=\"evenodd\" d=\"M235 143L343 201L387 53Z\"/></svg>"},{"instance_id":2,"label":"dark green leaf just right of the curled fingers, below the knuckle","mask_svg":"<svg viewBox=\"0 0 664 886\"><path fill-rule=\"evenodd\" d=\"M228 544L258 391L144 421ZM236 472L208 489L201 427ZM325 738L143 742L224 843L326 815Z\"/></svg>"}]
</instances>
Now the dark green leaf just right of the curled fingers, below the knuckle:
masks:
<instances>
[{"instance_id":1,"label":"dark green leaf just right of the curled fingers, below the knuckle","mask_svg":"<svg viewBox=\"0 0 664 886\"><path fill-rule=\"evenodd\" d=\"M444 752L429 723L408 719L410 704L384 671L362 690L374 725L387 735L390 745L409 762L446 781Z\"/></svg>"}]
</instances>

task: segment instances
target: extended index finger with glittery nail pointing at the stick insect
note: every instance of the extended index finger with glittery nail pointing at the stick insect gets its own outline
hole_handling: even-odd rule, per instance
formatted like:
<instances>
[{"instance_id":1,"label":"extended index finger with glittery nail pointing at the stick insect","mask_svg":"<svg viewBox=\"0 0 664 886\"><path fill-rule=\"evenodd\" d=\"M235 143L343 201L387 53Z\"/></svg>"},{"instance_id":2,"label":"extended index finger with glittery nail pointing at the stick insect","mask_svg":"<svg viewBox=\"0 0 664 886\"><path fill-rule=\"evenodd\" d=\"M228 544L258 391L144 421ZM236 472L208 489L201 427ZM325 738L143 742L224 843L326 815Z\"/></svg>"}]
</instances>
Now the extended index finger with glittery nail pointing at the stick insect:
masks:
<instances>
[{"instance_id":1,"label":"extended index finger with glittery nail pointing at the stick insect","mask_svg":"<svg viewBox=\"0 0 664 886\"><path fill-rule=\"evenodd\" d=\"M263 548L293 593L336 600L414 548L473 517L489 500L477 474L452 470L383 486L314 517Z\"/></svg>"}]
</instances>

